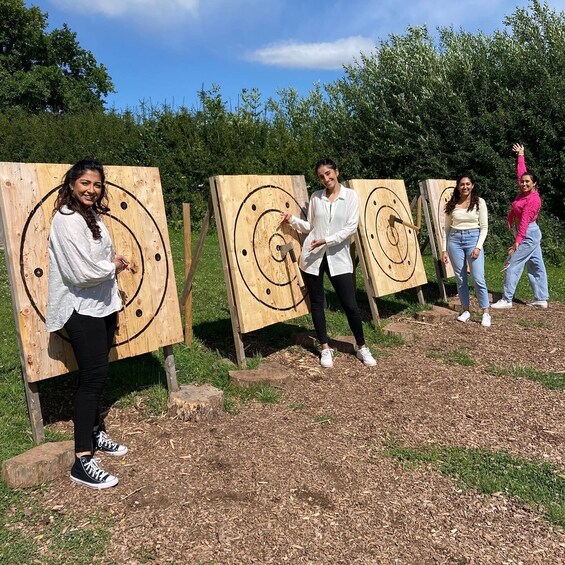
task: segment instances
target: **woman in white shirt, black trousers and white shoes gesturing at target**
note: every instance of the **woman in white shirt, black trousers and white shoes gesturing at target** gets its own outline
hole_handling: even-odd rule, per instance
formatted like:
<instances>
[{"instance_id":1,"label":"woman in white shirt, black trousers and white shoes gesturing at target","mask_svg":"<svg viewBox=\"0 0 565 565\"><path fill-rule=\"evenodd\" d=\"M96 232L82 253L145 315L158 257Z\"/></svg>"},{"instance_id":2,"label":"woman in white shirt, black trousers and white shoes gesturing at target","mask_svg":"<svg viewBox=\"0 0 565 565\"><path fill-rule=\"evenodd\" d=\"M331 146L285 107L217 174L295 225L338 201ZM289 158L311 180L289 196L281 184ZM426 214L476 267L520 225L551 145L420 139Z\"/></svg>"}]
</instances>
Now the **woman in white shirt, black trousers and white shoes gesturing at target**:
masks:
<instances>
[{"instance_id":1,"label":"woman in white shirt, black trousers and white shoes gesturing at target","mask_svg":"<svg viewBox=\"0 0 565 565\"><path fill-rule=\"evenodd\" d=\"M349 240L359 223L359 198L353 190L339 183L339 170L331 159L318 161L315 170L325 188L312 194L306 221L283 213L281 222L288 222L296 231L308 234L300 254L300 269L310 295L312 321L322 347L320 364L333 367L333 350L328 344L324 313L326 272L355 337L357 357L368 367L374 367L377 363L365 345L361 314L355 300L353 262L349 252Z\"/></svg>"}]
</instances>

